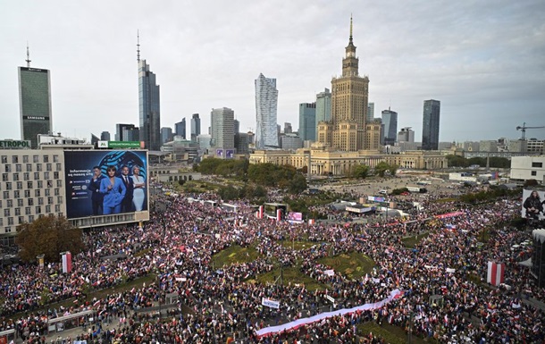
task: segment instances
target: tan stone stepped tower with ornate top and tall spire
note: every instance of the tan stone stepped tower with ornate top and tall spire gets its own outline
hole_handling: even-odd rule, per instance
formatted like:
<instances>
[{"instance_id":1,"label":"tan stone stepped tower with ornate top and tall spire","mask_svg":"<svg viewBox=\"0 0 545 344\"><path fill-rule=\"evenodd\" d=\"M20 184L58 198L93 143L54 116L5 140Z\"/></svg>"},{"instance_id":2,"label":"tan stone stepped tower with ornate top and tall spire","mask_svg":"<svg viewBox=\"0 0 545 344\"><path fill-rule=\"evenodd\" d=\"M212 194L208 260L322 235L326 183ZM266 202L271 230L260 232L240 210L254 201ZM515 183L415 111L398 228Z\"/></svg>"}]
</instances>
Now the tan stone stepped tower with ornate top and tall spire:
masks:
<instances>
[{"instance_id":1,"label":"tan stone stepped tower with ornate top and tall spire","mask_svg":"<svg viewBox=\"0 0 545 344\"><path fill-rule=\"evenodd\" d=\"M365 142L365 120L369 97L369 78L359 76L359 60L352 41L352 18L350 36L342 59L342 75L331 80L331 125L319 125L318 138L331 138L332 147L341 151L368 149ZM331 133L320 132L332 130Z\"/></svg>"}]
</instances>

